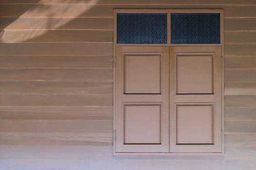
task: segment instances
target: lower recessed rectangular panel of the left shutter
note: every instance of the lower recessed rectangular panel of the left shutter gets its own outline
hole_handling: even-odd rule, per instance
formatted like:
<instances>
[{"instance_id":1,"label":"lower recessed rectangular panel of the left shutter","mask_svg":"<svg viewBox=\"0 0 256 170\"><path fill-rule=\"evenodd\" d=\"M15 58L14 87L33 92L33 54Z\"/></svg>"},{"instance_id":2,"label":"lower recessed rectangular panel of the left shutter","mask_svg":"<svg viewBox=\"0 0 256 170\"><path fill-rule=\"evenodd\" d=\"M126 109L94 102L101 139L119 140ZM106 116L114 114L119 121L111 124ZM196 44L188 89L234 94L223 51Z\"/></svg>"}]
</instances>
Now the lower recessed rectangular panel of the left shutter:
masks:
<instances>
[{"instance_id":1,"label":"lower recessed rectangular panel of the left shutter","mask_svg":"<svg viewBox=\"0 0 256 170\"><path fill-rule=\"evenodd\" d=\"M124 104L124 144L161 143L161 105Z\"/></svg>"}]
</instances>

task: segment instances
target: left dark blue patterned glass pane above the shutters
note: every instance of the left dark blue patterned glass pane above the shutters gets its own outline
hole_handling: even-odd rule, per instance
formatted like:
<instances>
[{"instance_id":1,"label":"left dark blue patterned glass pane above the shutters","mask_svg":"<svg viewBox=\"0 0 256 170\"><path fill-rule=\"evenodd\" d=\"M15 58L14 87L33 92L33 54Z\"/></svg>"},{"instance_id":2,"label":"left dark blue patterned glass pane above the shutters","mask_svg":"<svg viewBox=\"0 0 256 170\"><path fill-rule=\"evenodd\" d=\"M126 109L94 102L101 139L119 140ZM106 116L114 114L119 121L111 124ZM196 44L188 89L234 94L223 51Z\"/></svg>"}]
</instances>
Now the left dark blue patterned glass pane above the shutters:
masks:
<instances>
[{"instance_id":1,"label":"left dark blue patterned glass pane above the shutters","mask_svg":"<svg viewBox=\"0 0 256 170\"><path fill-rule=\"evenodd\" d=\"M118 13L117 43L166 44L166 13Z\"/></svg>"}]
</instances>

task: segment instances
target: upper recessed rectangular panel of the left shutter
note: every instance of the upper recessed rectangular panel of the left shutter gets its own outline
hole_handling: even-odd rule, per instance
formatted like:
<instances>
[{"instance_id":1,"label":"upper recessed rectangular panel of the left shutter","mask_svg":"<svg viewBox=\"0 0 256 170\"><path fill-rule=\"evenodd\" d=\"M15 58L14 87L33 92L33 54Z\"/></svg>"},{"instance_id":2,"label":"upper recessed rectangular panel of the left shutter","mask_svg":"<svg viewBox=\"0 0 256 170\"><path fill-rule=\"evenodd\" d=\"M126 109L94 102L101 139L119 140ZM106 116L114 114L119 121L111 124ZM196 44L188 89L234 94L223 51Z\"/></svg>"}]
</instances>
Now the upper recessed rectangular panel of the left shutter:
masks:
<instances>
[{"instance_id":1,"label":"upper recessed rectangular panel of the left shutter","mask_svg":"<svg viewBox=\"0 0 256 170\"><path fill-rule=\"evenodd\" d=\"M161 55L124 55L124 94L161 93Z\"/></svg>"}]
</instances>

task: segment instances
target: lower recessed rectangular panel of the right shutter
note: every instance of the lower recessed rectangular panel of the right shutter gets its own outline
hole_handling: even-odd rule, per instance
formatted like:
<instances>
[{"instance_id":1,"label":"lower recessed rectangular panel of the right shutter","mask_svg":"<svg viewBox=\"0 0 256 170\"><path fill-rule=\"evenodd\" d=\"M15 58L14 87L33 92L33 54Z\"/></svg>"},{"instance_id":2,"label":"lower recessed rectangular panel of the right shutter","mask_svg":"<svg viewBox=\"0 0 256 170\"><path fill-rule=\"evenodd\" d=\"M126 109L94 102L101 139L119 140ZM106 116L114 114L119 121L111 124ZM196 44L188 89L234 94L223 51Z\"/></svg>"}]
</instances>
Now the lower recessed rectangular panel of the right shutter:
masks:
<instances>
[{"instance_id":1,"label":"lower recessed rectangular panel of the right shutter","mask_svg":"<svg viewBox=\"0 0 256 170\"><path fill-rule=\"evenodd\" d=\"M177 105L177 144L213 144L213 105Z\"/></svg>"}]
</instances>

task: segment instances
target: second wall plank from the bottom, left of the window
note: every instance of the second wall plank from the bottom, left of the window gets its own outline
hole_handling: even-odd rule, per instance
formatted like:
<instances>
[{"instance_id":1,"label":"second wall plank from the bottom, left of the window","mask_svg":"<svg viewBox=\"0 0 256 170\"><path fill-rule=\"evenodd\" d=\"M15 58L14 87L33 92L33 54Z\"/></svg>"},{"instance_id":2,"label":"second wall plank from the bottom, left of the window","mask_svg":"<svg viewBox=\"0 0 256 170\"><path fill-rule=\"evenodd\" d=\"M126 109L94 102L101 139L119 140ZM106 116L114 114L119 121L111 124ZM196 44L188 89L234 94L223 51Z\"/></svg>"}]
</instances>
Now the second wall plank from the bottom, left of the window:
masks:
<instances>
[{"instance_id":1,"label":"second wall plank from the bottom, left of the window","mask_svg":"<svg viewBox=\"0 0 256 170\"><path fill-rule=\"evenodd\" d=\"M0 146L0 159L110 159L113 146Z\"/></svg>"}]
</instances>

